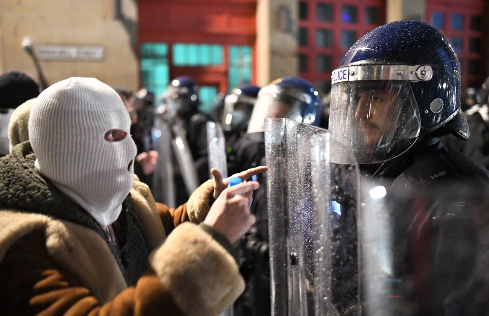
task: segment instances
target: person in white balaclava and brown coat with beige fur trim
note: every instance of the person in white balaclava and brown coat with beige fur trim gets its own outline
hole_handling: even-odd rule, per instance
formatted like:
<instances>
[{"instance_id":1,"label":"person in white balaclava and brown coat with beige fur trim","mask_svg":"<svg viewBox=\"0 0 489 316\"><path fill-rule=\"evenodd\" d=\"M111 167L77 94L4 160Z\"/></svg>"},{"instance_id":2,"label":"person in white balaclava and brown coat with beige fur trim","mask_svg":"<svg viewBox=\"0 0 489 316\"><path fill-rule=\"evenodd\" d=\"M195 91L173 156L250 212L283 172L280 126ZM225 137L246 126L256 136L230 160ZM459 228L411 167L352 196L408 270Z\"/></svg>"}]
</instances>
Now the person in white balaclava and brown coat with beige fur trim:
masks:
<instances>
[{"instance_id":1,"label":"person in white balaclava and brown coat with beige fur trim","mask_svg":"<svg viewBox=\"0 0 489 316\"><path fill-rule=\"evenodd\" d=\"M266 167L230 187L213 169L169 208L133 175L129 127L117 92L93 78L34 100L30 141L0 158L1 315L219 315L243 291L233 243L255 220L259 184L246 180Z\"/></svg>"}]
</instances>

